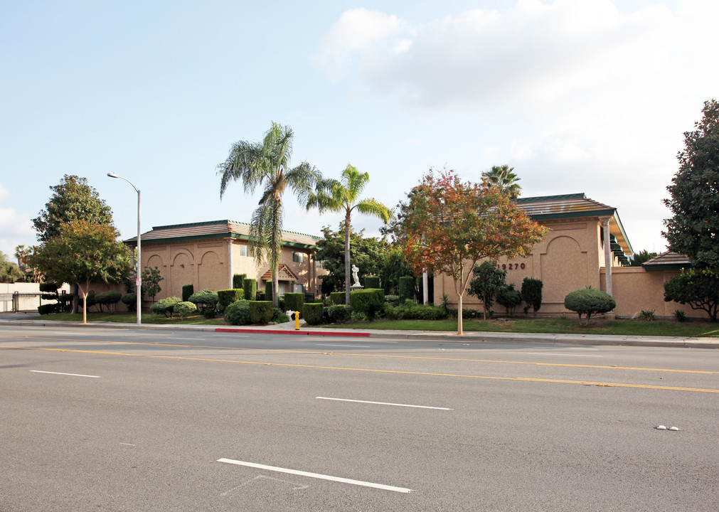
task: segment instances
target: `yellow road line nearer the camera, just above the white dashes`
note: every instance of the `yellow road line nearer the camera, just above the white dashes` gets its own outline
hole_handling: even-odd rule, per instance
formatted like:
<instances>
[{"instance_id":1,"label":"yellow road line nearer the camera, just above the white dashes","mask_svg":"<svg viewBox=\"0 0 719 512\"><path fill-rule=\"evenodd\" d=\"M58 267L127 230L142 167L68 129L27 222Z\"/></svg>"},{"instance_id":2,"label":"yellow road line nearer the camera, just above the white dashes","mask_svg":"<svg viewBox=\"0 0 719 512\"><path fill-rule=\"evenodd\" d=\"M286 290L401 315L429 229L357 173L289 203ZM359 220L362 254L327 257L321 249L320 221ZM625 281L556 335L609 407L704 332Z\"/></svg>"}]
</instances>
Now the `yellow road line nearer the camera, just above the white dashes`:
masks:
<instances>
[{"instance_id":1,"label":"yellow road line nearer the camera, just above the white dashes","mask_svg":"<svg viewBox=\"0 0 719 512\"><path fill-rule=\"evenodd\" d=\"M280 362L259 362L259 361L237 361L226 359L209 359L205 357L181 357L172 355L151 355L151 354L128 354L126 352L108 352L104 350L81 350L81 349L52 349L47 347L14 347L12 345L0 345L0 349L22 349L22 350L45 350L49 352L76 352L81 354L102 354L102 355L120 355L128 357L152 357L155 359L169 359L182 361L203 361L203 362L229 362L237 365L263 365L263 366L281 366L292 368L311 368L313 370L343 370L352 372L374 372L374 373L392 373L400 375L427 375L431 377L456 377L467 379L485 379L485 380L518 380L523 382L535 383L557 383L557 384L582 384L597 385L612 388L642 388L655 390L674 390L674 391L694 391L697 393L719 393L719 389L702 389L702 388L678 388L674 386L646 385L646 384L626 384L626 383L606 383L594 382L592 380L562 380L562 379L540 379L531 377L490 377L488 375L462 375L457 373L435 373L435 372L410 372L407 370L375 370L372 368L352 368L352 367L336 367L336 366L319 366L319 365L290 365L289 363Z\"/></svg>"}]
</instances>

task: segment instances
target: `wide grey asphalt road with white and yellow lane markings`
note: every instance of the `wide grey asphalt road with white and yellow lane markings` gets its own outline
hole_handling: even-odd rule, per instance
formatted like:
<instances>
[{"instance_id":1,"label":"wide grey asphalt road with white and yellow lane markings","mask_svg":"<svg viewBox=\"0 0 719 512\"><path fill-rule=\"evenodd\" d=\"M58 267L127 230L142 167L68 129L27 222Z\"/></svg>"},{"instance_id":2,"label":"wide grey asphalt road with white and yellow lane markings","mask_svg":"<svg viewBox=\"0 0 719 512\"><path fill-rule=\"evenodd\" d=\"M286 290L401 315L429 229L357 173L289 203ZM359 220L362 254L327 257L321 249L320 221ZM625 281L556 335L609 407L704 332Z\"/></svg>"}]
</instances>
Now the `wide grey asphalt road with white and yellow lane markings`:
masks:
<instances>
[{"instance_id":1,"label":"wide grey asphalt road with white and yellow lane markings","mask_svg":"<svg viewBox=\"0 0 719 512\"><path fill-rule=\"evenodd\" d=\"M716 511L718 377L709 349L0 326L0 511Z\"/></svg>"}]
</instances>

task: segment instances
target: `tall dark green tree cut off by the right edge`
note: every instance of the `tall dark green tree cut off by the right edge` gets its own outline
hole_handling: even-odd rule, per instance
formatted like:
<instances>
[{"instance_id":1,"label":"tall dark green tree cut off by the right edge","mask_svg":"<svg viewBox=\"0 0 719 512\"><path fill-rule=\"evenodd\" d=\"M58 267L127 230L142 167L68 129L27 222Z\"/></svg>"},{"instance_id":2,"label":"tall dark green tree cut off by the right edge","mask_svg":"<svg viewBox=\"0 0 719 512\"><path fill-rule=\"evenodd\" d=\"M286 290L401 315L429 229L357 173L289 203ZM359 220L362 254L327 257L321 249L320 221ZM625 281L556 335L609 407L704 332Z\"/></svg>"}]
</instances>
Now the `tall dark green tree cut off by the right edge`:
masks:
<instances>
[{"instance_id":1,"label":"tall dark green tree cut off by the right edge","mask_svg":"<svg viewBox=\"0 0 719 512\"><path fill-rule=\"evenodd\" d=\"M719 102L705 101L704 116L684 132L679 170L664 204L672 211L663 232L669 249L697 267L719 269Z\"/></svg>"}]
</instances>

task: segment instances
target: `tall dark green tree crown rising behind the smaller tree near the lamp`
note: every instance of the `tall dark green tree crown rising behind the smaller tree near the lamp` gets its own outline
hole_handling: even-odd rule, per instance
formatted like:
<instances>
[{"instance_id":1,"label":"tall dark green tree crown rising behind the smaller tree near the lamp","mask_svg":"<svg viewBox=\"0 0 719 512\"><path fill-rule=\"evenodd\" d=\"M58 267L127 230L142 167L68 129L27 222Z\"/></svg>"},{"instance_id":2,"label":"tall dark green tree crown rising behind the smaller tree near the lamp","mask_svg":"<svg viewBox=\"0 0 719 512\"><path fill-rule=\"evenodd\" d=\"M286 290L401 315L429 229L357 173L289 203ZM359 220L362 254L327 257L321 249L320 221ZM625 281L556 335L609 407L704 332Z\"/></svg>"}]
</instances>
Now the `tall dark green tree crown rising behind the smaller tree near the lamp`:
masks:
<instances>
[{"instance_id":1,"label":"tall dark green tree crown rising behind the smaller tree near the lamp","mask_svg":"<svg viewBox=\"0 0 719 512\"><path fill-rule=\"evenodd\" d=\"M60 183L51 186L52 197L32 224L40 242L47 242L60 234L60 227L73 221L93 224L112 224L112 211L97 191L88 185L87 178L65 175Z\"/></svg>"}]
</instances>

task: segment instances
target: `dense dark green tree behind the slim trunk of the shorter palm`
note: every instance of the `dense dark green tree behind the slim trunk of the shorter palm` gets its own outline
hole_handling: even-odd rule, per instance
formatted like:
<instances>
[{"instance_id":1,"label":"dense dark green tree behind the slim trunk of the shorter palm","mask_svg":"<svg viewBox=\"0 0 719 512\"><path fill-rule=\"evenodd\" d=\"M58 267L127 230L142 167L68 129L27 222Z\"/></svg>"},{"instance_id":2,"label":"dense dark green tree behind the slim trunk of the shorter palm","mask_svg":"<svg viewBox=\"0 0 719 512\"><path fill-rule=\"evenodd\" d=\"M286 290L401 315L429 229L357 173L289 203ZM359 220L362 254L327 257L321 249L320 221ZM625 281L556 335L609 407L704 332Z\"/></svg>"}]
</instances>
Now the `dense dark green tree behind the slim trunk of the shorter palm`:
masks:
<instances>
[{"instance_id":1,"label":"dense dark green tree behind the slim trunk of the shorter palm","mask_svg":"<svg viewBox=\"0 0 719 512\"><path fill-rule=\"evenodd\" d=\"M339 230L333 231L329 226L322 228L324 235L317 242L315 259L322 262L322 267L329 275L321 276L322 292L325 295L334 290L342 290L345 283L345 232L344 224ZM350 259L357 264L359 273L357 277L364 280L366 275L379 275L388 254L388 244L385 239L365 237L365 230L358 232L350 230ZM346 296L345 296L346 298Z\"/></svg>"}]
</instances>

